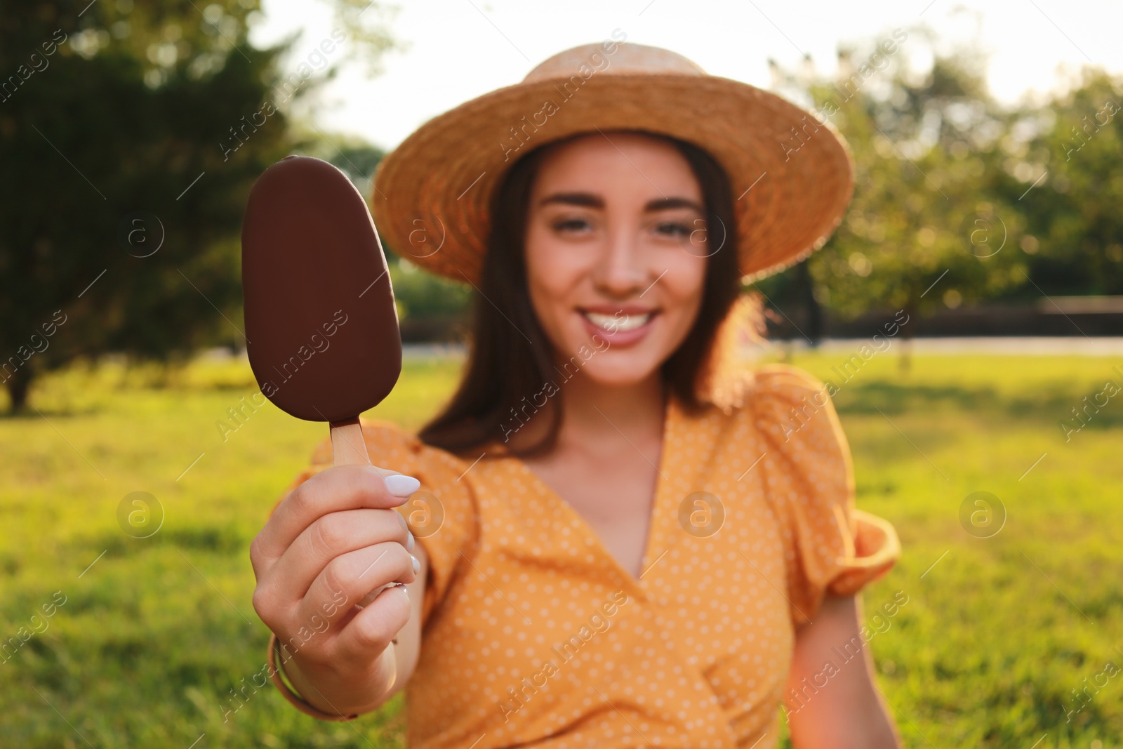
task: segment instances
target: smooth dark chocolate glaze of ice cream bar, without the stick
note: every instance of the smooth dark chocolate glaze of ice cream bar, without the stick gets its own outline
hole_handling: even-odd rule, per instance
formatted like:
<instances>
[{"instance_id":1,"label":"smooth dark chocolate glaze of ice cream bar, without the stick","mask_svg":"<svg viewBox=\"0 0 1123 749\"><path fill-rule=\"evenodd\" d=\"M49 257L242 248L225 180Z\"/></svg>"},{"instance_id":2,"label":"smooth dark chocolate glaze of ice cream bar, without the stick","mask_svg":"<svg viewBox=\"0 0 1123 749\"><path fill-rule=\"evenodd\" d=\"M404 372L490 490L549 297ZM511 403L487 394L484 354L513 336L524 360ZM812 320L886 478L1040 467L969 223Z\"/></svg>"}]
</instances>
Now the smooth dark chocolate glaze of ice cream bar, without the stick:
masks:
<instances>
[{"instance_id":1,"label":"smooth dark chocolate glaze of ice cream bar, without the stick","mask_svg":"<svg viewBox=\"0 0 1123 749\"><path fill-rule=\"evenodd\" d=\"M246 348L262 393L308 421L377 405L402 369L386 258L338 168L287 156L254 183L241 223Z\"/></svg>"}]
</instances>

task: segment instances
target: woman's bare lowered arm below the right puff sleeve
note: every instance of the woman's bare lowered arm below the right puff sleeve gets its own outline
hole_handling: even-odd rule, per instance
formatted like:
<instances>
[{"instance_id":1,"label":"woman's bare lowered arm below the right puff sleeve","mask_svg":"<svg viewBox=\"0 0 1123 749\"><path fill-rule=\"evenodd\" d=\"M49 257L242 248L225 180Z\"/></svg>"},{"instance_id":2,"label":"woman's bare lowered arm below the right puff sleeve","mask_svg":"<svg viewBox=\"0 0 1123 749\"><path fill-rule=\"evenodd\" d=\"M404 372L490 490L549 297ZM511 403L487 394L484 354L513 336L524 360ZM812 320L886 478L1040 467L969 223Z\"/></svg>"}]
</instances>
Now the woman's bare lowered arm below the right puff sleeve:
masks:
<instances>
[{"instance_id":1,"label":"woman's bare lowered arm below the right puff sleeve","mask_svg":"<svg viewBox=\"0 0 1123 749\"><path fill-rule=\"evenodd\" d=\"M796 630L785 694L792 746L897 749L898 737L874 686L855 596L827 596L813 623Z\"/></svg>"}]
</instances>

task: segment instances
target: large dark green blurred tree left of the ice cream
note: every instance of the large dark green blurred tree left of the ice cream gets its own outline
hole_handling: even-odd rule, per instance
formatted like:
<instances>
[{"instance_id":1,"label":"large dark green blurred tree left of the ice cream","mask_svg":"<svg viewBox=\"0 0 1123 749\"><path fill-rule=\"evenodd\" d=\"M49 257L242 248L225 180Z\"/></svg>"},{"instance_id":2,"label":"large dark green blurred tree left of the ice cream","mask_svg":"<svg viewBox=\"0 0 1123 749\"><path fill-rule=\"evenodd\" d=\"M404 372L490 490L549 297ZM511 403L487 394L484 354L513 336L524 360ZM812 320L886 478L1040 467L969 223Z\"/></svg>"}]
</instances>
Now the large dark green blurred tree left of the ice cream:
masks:
<instances>
[{"instance_id":1,"label":"large dark green blurred tree left of the ice cream","mask_svg":"<svg viewBox=\"0 0 1123 749\"><path fill-rule=\"evenodd\" d=\"M0 0L0 382L12 410L37 374L75 357L166 360L241 342L241 210L293 146L291 102L344 55L391 46L355 2L335 3L345 25L330 38L257 49L258 0Z\"/></svg>"}]
</instances>

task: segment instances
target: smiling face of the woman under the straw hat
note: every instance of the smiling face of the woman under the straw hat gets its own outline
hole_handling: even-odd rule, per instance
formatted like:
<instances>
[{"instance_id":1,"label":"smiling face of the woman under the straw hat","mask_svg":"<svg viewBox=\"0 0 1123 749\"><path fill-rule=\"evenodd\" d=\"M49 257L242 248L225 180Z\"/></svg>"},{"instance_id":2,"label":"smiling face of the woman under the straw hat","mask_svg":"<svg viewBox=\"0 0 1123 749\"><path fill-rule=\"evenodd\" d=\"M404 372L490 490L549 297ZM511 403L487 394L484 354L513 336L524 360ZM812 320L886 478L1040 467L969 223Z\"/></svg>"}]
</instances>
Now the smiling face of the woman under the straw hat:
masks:
<instances>
[{"instance_id":1,"label":"smiling face of the woman under the straw hat","mask_svg":"<svg viewBox=\"0 0 1123 749\"><path fill-rule=\"evenodd\" d=\"M566 376L651 376L702 302L709 250L690 164L658 138L583 136L542 159L528 211L530 300Z\"/></svg>"}]
</instances>

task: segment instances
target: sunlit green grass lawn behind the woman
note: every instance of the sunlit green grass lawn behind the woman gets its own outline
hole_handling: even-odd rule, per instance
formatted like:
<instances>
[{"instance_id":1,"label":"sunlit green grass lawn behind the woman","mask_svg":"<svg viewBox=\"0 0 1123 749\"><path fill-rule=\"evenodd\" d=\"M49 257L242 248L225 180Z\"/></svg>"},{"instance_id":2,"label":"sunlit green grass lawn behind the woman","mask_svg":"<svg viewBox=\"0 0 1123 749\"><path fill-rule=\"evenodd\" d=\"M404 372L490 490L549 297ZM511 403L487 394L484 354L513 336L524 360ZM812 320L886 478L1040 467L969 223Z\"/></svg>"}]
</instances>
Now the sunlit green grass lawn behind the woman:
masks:
<instances>
[{"instance_id":1,"label":"sunlit green grass lawn behind the woman","mask_svg":"<svg viewBox=\"0 0 1123 749\"><path fill-rule=\"evenodd\" d=\"M859 506L901 536L900 564L865 604L871 615L909 596L870 640L905 746L1123 746L1123 674L1074 696L1097 675L1104 684L1107 661L1123 665L1123 395L1069 441L1060 428L1107 380L1123 385L1112 369L1123 362L916 356L904 375L886 353L842 383L832 367L847 358L792 363L840 385ZM367 415L417 428L458 368L408 362ZM0 655L0 743L402 745L400 698L350 725L323 723L267 685L223 720L268 639L250 605L249 541L327 435L270 404L230 421L227 409L256 392L237 360L172 374L106 364L44 380L40 413L0 419L0 640L65 601ZM138 491L165 513L146 539L117 519ZM1006 510L992 538L960 524L978 491Z\"/></svg>"}]
</instances>

